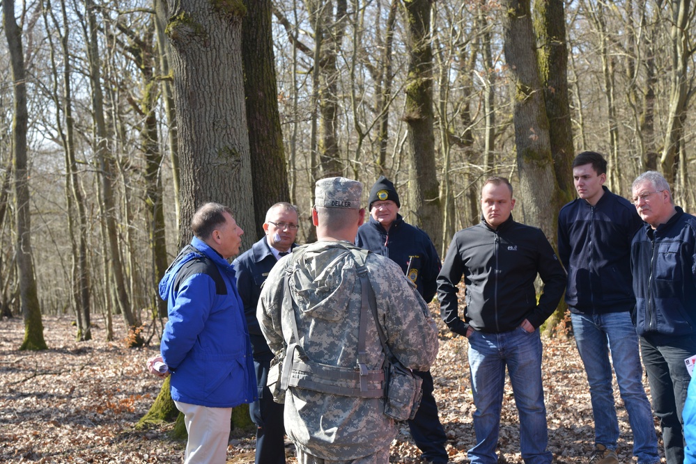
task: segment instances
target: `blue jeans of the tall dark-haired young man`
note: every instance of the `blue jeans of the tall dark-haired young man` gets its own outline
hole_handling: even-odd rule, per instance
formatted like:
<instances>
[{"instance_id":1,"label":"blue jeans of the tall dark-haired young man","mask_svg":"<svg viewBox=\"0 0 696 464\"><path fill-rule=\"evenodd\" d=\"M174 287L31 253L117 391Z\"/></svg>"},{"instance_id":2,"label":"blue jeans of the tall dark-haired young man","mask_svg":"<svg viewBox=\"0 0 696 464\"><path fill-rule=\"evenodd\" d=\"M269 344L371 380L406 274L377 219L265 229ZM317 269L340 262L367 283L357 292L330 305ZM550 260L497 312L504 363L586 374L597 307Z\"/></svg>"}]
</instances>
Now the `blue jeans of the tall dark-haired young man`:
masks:
<instances>
[{"instance_id":1,"label":"blue jeans of the tall dark-haired young man","mask_svg":"<svg viewBox=\"0 0 696 464\"><path fill-rule=\"evenodd\" d=\"M585 365L594 415L594 440L617 449L619 421L614 408L612 362L633 431L633 456L640 464L660 462L650 402L642 384L638 336L629 312L571 313L575 344ZM609 351L612 362L609 360Z\"/></svg>"}]
</instances>

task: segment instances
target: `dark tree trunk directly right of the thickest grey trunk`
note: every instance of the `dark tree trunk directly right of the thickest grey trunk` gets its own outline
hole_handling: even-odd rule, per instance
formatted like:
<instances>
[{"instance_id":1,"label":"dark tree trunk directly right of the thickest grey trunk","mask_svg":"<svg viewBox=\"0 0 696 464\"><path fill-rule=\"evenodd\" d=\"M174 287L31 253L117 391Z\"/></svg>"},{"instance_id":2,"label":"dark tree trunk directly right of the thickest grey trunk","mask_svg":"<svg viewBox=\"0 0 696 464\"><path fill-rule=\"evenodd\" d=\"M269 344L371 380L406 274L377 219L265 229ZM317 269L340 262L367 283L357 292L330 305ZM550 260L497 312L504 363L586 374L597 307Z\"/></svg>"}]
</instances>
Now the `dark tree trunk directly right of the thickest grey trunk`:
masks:
<instances>
[{"instance_id":1,"label":"dark tree trunk directly right of the thickest grey trunk","mask_svg":"<svg viewBox=\"0 0 696 464\"><path fill-rule=\"evenodd\" d=\"M271 1L245 0L245 3L242 60L254 191L254 228L247 234L261 239L266 211L276 202L289 201L290 189L278 112Z\"/></svg>"}]
</instances>

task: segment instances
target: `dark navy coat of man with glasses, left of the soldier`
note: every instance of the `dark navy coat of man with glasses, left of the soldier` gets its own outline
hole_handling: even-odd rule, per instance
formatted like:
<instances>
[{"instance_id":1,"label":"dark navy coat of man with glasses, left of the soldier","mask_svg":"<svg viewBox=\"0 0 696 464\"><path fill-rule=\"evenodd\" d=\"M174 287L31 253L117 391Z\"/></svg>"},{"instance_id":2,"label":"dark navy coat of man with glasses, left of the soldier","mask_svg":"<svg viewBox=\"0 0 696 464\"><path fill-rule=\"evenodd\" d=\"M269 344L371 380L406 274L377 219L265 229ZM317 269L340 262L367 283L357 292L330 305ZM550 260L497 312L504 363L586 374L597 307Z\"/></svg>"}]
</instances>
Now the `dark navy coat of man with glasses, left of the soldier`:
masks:
<instances>
[{"instance_id":1,"label":"dark navy coat of man with glasses, left of the soldier","mask_svg":"<svg viewBox=\"0 0 696 464\"><path fill-rule=\"evenodd\" d=\"M294 243L292 248L295 248ZM252 248L249 248L249 250L239 255L232 262L232 266L237 272L239 295L242 298L242 303L244 303L244 314L247 318L254 360L258 362L273 359L273 353L268 348L266 339L258 326L256 304L258 303L258 297L261 295L261 285L265 282L268 273L277 262L278 260L275 259L266 237L254 243Z\"/></svg>"}]
</instances>

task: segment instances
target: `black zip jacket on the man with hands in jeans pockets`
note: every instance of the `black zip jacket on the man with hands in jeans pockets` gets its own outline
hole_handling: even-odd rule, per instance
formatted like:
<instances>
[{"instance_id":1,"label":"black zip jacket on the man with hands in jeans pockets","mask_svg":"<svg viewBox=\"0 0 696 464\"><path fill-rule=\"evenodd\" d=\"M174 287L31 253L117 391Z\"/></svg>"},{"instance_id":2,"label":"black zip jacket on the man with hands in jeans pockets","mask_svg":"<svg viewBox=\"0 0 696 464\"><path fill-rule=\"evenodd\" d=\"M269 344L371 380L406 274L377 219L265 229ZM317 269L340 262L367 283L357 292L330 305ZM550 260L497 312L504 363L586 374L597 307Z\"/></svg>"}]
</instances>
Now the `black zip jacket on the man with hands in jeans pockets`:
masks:
<instances>
[{"instance_id":1,"label":"black zip jacket on the man with hands in jeans pockets","mask_svg":"<svg viewBox=\"0 0 696 464\"><path fill-rule=\"evenodd\" d=\"M536 301L539 274L543 294ZM466 311L458 312L457 285L464 278ZM566 273L541 229L512 216L492 229L486 221L454 234L438 276L442 320L465 335L471 325L486 333L509 332L525 319L535 328L556 310Z\"/></svg>"}]
</instances>

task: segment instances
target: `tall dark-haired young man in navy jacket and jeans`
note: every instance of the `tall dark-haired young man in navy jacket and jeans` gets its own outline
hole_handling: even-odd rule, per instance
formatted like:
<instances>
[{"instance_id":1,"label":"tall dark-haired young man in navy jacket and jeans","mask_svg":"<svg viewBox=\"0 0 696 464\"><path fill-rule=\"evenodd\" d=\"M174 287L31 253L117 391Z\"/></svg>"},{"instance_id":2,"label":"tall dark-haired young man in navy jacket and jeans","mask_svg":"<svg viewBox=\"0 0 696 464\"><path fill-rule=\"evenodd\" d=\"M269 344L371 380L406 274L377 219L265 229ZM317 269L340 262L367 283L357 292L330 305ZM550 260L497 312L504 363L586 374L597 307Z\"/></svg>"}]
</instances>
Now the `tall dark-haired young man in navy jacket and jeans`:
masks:
<instances>
[{"instance_id":1,"label":"tall dark-haired young man in navy jacket and jeans","mask_svg":"<svg viewBox=\"0 0 696 464\"><path fill-rule=\"evenodd\" d=\"M635 305L631 239L642 221L631 202L603 185L606 173L607 161L601 154L578 154L573 160L573 183L579 198L558 215L558 255L568 272L566 303L594 416L595 449L589 463L619 463L613 363L633 431L633 455L639 464L654 464L660 461L657 435L631 321Z\"/></svg>"}]
</instances>

